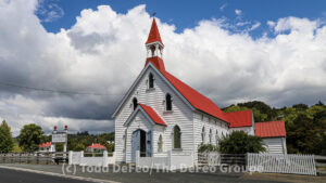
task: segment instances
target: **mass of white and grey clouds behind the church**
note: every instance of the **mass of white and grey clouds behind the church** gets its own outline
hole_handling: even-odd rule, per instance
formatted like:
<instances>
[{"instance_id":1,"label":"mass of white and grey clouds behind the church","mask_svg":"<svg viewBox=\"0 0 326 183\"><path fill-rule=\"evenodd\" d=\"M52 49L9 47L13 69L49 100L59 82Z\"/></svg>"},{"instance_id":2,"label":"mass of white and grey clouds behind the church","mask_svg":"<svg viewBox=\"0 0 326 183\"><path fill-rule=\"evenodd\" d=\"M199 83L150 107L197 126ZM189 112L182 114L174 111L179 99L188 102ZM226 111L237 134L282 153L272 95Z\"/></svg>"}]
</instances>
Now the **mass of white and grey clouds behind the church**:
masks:
<instances>
[{"instance_id":1,"label":"mass of white and grey clouds behind the church","mask_svg":"<svg viewBox=\"0 0 326 183\"><path fill-rule=\"evenodd\" d=\"M15 134L27 122L46 130L60 121L72 130L113 130L110 115L145 64L151 25L145 5L126 14L108 5L83 10L72 28L52 34L34 14L36 0L0 3L0 81L109 94L53 94L0 84L0 117ZM274 106L326 100L326 26L317 21L284 17L273 25L275 38L256 39L225 29L223 19L202 21L180 34L159 18L158 24L166 69L221 107L249 100Z\"/></svg>"}]
</instances>

